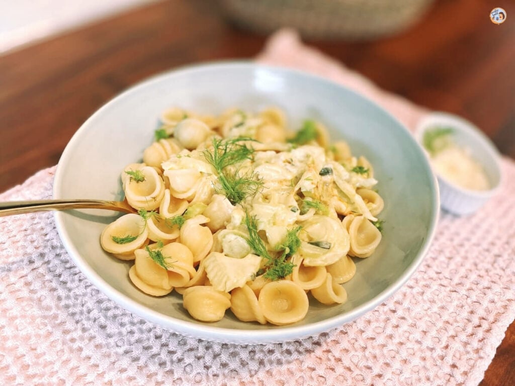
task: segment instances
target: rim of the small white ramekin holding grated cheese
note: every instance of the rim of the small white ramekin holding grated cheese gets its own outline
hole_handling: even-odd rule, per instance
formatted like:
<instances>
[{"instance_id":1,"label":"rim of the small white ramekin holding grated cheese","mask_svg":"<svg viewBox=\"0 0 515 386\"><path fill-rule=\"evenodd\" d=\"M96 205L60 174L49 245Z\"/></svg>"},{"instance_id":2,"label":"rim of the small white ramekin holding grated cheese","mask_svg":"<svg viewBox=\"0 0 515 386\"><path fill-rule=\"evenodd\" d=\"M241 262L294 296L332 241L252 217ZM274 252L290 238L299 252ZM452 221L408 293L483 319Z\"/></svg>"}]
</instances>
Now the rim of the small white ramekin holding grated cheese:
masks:
<instances>
[{"instance_id":1,"label":"rim of the small white ramekin holding grated cheese","mask_svg":"<svg viewBox=\"0 0 515 386\"><path fill-rule=\"evenodd\" d=\"M495 166L495 170L497 174L499 174L499 179L496 181L496 183L491 186L489 189L486 190L474 190L474 189L468 189L461 187L454 183L453 181L449 180L448 178L442 176L441 174L437 173L433 167L431 168L433 170L433 173L436 174L436 177L438 181L443 182L444 184L448 185L449 188L452 188L456 190L459 194L466 195L471 198L475 199L489 199L491 196L493 196L497 190L500 189L502 182L503 182L503 173L501 168L501 155L499 153L499 150L495 147L495 145L492 143L490 138L488 138L485 133L483 133L477 126L475 126L472 122L468 121L465 118L462 118L458 115L447 113L443 111L435 111L432 113L427 114L424 116L420 121L417 123L416 129L415 129L415 136L417 138L417 142L422 148L424 154L428 157L428 160L430 160L431 164L431 155L429 152L425 149L424 145L422 144L423 134L428 129L429 125L435 125L438 121L445 122L445 124L449 125L448 122L453 122L455 125L453 126L453 129L458 130L462 133L465 133L467 135L467 138L471 138L472 141L479 144L485 153L488 155L488 157L493 161L493 164ZM441 180L441 181L440 181Z\"/></svg>"}]
</instances>

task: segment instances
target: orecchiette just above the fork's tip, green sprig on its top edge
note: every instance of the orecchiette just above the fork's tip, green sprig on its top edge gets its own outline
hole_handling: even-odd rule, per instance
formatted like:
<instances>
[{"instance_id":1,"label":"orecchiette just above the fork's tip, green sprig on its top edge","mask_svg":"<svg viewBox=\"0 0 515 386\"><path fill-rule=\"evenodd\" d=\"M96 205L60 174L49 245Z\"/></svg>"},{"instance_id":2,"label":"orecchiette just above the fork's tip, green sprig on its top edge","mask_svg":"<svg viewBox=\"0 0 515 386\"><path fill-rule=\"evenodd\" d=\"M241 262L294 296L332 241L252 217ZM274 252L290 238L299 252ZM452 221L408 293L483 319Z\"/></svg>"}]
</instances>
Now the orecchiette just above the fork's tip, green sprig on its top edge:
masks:
<instances>
[{"instance_id":1,"label":"orecchiette just above the fork's tip, green sprig on its top edge","mask_svg":"<svg viewBox=\"0 0 515 386\"><path fill-rule=\"evenodd\" d=\"M125 198L134 208L152 210L159 207L164 197L164 181L156 169L144 166L138 170L143 181L133 177L126 179L124 184Z\"/></svg>"}]
</instances>

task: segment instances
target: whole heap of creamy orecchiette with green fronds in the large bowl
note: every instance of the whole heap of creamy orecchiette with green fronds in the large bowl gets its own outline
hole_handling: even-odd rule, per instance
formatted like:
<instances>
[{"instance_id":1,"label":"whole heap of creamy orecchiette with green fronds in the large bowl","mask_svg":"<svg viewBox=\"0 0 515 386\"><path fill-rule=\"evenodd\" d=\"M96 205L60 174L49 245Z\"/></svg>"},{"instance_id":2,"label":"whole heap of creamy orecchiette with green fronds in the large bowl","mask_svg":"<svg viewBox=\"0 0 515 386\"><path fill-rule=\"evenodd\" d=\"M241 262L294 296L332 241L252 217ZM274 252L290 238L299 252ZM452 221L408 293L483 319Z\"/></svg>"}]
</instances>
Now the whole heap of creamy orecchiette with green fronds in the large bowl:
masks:
<instances>
[{"instance_id":1,"label":"whole heap of creamy orecchiette with green fronds in the large bowl","mask_svg":"<svg viewBox=\"0 0 515 386\"><path fill-rule=\"evenodd\" d=\"M289 131L277 108L202 116L163 112L143 162L122 184L138 210L106 226L102 248L133 260L141 291L176 291L196 320L231 309L245 322L302 320L308 296L341 304L381 241L384 202L365 157L329 145L320 122Z\"/></svg>"}]
</instances>

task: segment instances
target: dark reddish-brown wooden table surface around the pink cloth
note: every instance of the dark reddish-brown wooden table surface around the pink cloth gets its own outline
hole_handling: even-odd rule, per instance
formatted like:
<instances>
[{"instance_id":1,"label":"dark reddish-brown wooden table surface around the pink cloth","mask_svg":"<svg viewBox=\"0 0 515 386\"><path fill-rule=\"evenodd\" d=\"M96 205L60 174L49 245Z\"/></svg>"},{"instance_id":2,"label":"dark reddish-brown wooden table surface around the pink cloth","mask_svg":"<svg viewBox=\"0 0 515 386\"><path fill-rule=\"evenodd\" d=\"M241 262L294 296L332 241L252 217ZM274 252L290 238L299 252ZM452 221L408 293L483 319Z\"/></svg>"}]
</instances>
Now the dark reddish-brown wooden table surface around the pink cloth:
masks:
<instances>
[{"instance_id":1,"label":"dark reddish-brown wooden table surface around the pink cloth","mask_svg":"<svg viewBox=\"0 0 515 386\"><path fill-rule=\"evenodd\" d=\"M489 20L497 6L508 15L499 26ZM57 164L84 120L133 83L189 63L252 58L264 42L226 23L214 2L170 0L0 56L0 192ZM385 90L471 120L515 158L515 2L440 0L397 37L308 43ZM512 384L515 323L481 383Z\"/></svg>"}]
</instances>

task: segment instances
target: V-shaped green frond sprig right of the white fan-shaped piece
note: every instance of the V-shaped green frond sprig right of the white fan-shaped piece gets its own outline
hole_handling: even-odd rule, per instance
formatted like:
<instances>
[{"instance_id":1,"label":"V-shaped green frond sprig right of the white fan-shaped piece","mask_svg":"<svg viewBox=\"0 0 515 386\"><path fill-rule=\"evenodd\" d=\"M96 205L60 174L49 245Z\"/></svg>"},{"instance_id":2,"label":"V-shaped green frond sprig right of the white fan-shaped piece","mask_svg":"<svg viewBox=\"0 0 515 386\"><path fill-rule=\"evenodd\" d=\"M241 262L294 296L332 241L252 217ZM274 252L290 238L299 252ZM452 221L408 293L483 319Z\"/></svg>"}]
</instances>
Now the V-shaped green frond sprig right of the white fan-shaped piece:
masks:
<instances>
[{"instance_id":1,"label":"V-shaped green frond sprig right of the white fan-shaped piece","mask_svg":"<svg viewBox=\"0 0 515 386\"><path fill-rule=\"evenodd\" d=\"M277 247L277 250L283 253L279 257L274 258L266 250L265 242L258 234L258 220L256 217L249 216L247 213L245 225L249 232L247 244L249 244L252 251L267 260L263 277L270 280L278 280L293 272L295 265L291 261L286 261L286 259L293 255L300 247L300 239L298 237L301 229L300 226L288 231L285 242Z\"/></svg>"}]
</instances>

